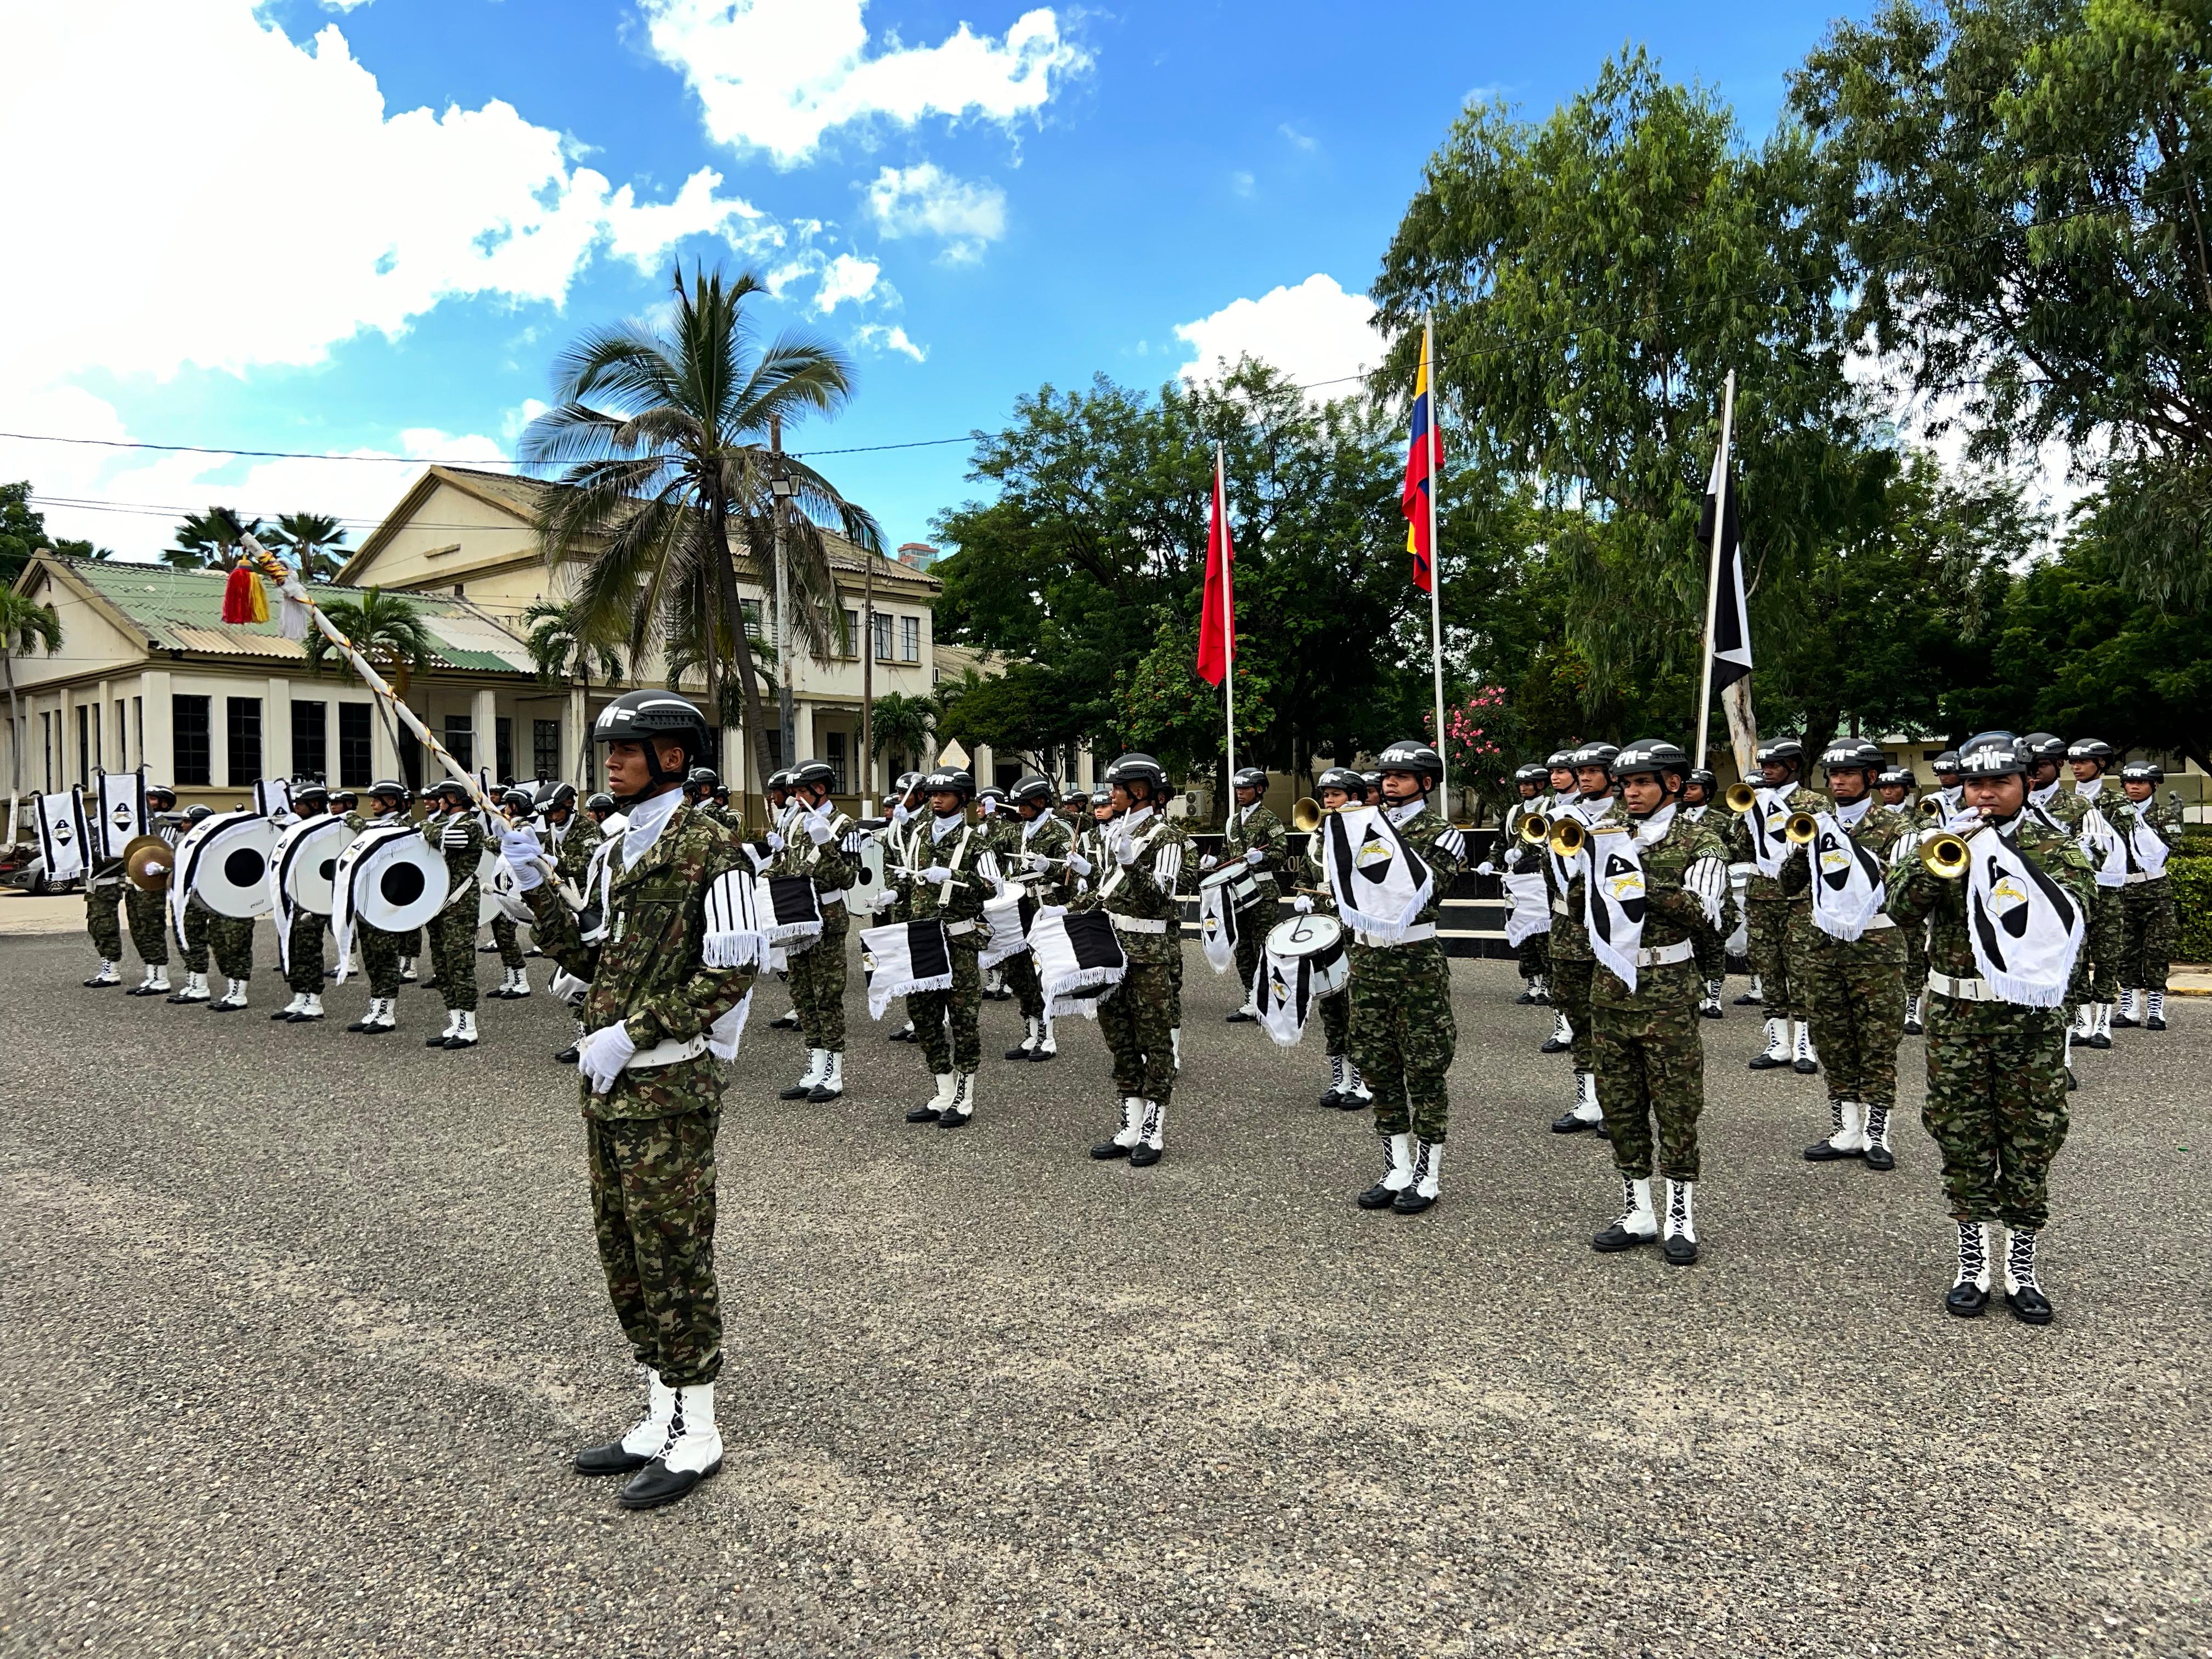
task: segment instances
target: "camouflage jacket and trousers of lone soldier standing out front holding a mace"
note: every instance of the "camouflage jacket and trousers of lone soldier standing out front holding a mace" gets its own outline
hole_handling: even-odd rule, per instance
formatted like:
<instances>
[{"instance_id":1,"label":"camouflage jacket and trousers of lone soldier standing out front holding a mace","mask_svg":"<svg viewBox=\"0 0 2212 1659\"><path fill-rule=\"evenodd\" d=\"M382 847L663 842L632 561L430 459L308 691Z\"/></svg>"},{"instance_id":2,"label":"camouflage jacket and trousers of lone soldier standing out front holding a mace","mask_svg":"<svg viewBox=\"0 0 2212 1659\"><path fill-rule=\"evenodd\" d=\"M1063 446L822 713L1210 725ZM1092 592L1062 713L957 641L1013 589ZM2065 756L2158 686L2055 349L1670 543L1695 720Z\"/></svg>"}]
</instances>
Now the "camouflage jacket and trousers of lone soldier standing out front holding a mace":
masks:
<instances>
[{"instance_id":1,"label":"camouflage jacket and trousers of lone soldier standing out front holding a mace","mask_svg":"<svg viewBox=\"0 0 2212 1659\"><path fill-rule=\"evenodd\" d=\"M606 933L584 945L551 883L524 898L540 949L588 980L588 1031L617 1020L639 1051L690 1044L750 991L754 969L701 962L706 891L748 869L737 836L679 805L659 838L624 869L615 860ZM582 1086L599 1265L637 1363L672 1389L721 1374L721 1292L714 1281L714 1130L721 1071L701 1048L664 1066L630 1066L604 1095Z\"/></svg>"}]
</instances>

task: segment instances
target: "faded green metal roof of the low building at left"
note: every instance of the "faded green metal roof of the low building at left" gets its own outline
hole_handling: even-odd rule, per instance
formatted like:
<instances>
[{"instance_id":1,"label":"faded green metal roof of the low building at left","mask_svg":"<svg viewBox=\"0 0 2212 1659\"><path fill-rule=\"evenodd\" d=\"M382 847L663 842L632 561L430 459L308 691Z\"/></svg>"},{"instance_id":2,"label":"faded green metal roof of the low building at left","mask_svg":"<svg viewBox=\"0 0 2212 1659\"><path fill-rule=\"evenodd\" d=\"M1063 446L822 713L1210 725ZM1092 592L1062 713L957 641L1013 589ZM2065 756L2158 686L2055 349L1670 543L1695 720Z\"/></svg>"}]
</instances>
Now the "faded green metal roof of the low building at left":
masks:
<instances>
[{"instance_id":1,"label":"faded green metal roof of the low building at left","mask_svg":"<svg viewBox=\"0 0 2212 1659\"><path fill-rule=\"evenodd\" d=\"M210 657L268 657L272 661L305 661L307 650L285 639L276 624L279 602L270 588L270 619L254 624L223 622L221 571L177 571L168 564L126 564L119 560L55 560L69 573L113 604L133 626L144 630L155 650L184 650ZM367 588L316 584L316 604L358 599ZM405 599L431 637L438 668L460 668L484 675L533 675L531 653L511 630L467 599L442 593L389 593Z\"/></svg>"}]
</instances>

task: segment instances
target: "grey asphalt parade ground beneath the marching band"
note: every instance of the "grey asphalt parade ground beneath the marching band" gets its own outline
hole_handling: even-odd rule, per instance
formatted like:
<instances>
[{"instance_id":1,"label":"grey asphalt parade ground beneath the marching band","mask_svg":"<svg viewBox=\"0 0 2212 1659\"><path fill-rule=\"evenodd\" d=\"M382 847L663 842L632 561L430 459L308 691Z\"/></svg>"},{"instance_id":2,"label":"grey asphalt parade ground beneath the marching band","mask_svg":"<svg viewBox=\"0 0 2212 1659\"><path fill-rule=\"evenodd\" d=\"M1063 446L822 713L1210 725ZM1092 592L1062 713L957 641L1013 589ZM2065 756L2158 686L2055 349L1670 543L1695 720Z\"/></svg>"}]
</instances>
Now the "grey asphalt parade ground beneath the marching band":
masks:
<instances>
[{"instance_id":1,"label":"grey asphalt parade ground beneath the marching band","mask_svg":"<svg viewBox=\"0 0 2212 1659\"><path fill-rule=\"evenodd\" d=\"M261 958L272 953L263 929ZM484 984L495 962L478 958ZM630 1515L566 1037L281 1026L0 942L9 1655L2208 1655L2212 1009L2081 1057L2059 1318L1947 1318L1907 1040L1898 1170L1809 1166L1818 1079L1705 1029L1703 1261L1595 1256L1564 1060L1455 962L1444 1201L1367 1214L1318 1031L1223 1026L1190 951L1170 1152L1099 1166L1097 1031L911 1128L849 1002L790 1106L759 1020L721 1133L728 1464ZM544 964L533 962L535 978ZM1732 991L1741 982L1732 982ZM354 982L336 1015L365 1002Z\"/></svg>"}]
</instances>

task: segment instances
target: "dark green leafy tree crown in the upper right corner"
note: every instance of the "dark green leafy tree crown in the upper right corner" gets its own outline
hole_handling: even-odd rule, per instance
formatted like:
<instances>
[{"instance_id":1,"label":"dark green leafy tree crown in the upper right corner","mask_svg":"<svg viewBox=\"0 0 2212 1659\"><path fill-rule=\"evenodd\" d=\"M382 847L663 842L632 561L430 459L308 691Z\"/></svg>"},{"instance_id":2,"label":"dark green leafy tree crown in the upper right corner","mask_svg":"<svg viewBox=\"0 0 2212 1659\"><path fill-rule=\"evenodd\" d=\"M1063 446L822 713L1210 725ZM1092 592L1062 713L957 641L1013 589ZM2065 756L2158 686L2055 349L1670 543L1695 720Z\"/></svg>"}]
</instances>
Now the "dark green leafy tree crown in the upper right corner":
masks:
<instances>
[{"instance_id":1,"label":"dark green leafy tree crown in the upper right corner","mask_svg":"<svg viewBox=\"0 0 2212 1659\"><path fill-rule=\"evenodd\" d=\"M2070 445L2115 571L2212 597L2212 11L1889 0L1794 77L1849 330L1982 456ZM2212 146L2212 139L2205 139Z\"/></svg>"}]
</instances>

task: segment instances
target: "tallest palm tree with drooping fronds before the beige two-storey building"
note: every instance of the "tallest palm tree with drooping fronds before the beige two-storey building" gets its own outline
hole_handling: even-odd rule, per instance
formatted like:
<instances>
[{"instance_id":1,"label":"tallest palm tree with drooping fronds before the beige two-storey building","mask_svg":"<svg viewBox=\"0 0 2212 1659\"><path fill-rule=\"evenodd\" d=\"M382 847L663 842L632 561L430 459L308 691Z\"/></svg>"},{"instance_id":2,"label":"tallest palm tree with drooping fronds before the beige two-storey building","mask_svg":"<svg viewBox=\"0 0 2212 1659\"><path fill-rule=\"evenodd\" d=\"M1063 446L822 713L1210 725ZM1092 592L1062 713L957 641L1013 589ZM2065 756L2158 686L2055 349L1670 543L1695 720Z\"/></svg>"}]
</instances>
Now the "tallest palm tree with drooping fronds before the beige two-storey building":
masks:
<instances>
[{"instance_id":1,"label":"tallest palm tree with drooping fronds before the beige two-storey building","mask_svg":"<svg viewBox=\"0 0 2212 1659\"><path fill-rule=\"evenodd\" d=\"M790 624L818 661L845 635L845 608L821 524L883 549L876 520L803 460L781 453L781 429L836 414L852 396L852 363L834 345L781 334L754 345L743 307L765 283L752 272L675 272L666 334L639 325L595 330L562 354L557 407L522 436L522 460L566 467L540 518L546 562L584 564L577 597L588 615L630 630L630 655L668 624L719 611L712 657L728 655L743 690L752 761L768 776L757 646L745 635L739 560L761 582L783 531ZM763 442L765 440L765 442ZM774 484L790 489L779 513ZM779 524L781 520L781 524ZM761 582L765 586L765 582ZM717 699L719 701L719 699Z\"/></svg>"}]
</instances>

